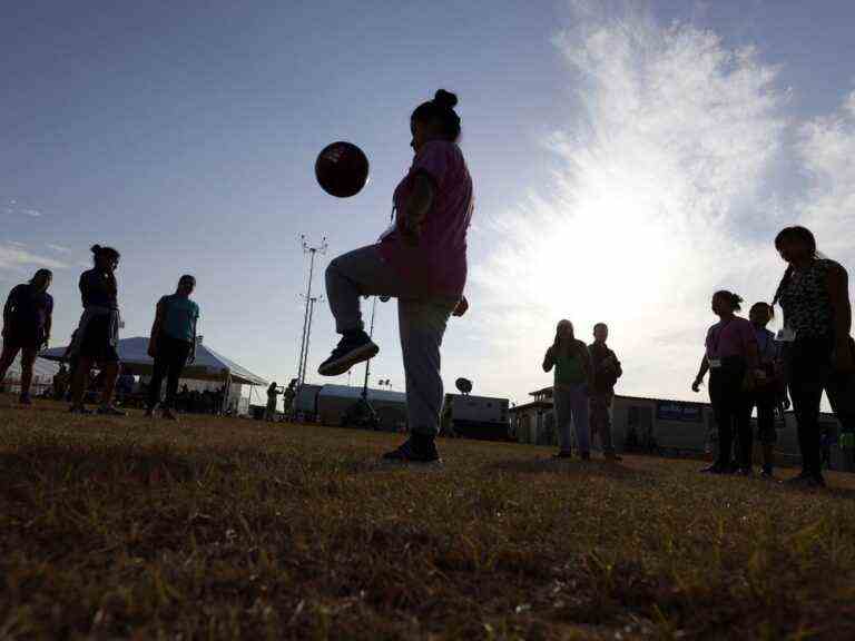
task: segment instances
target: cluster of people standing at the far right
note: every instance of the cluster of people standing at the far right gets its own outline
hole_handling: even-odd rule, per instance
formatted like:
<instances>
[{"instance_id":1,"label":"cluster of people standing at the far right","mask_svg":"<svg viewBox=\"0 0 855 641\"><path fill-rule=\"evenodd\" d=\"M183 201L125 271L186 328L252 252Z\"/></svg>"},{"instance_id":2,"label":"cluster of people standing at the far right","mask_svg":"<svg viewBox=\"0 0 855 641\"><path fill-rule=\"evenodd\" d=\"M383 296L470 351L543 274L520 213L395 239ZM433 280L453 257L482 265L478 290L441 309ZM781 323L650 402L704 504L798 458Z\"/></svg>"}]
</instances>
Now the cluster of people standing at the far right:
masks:
<instances>
[{"instance_id":1,"label":"cluster of people standing at the far right","mask_svg":"<svg viewBox=\"0 0 855 641\"><path fill-rule=\"evenodd\" d=\"M733 292L712 296L719 322L707 332L700 369L692 383L699 391L709 372L709 396L718 427L718 455L705 472L753 474L750 418L757 408L763 469L773 474L775 408L792 400L802 472L790 481L824 486L819 408L823 392L844 432L855 432L855 342L846 269L822 257L805 227L783 229L775 248L787 263L772 304L758 302L749 318L737 316L743 299ZM775 305L783 309L777 337L766 326ZM789 394L789 400L787 398ZM731 462L734 436L737 464Z\"/></svg>"}]
</instances>

